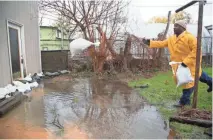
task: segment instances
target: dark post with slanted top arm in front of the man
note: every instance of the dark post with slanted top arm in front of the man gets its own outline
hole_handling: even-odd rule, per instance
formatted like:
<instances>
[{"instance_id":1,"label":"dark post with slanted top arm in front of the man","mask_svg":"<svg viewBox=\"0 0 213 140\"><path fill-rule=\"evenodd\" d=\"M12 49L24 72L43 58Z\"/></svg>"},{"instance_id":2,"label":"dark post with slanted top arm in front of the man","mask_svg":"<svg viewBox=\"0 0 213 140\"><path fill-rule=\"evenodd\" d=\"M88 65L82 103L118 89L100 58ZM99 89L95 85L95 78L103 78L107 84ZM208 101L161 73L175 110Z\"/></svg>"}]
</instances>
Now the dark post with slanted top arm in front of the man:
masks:
<instances>
[{"instance_id":1,"label":"dark post with slanted top arm in front of the man","mask_svg":"<svg viewBox=\"0 0 213 140\"><path fill-rule=\"evenodd\" d=\"M194 0L188 4L177 9L175 12L180 12L187 7L199 2L199 11L198 11L198 29L197 29L197 52L196 52L196 67L195 67L195 84L194 84L194 95L192 108L197 107L197 95L198 95L198 82L199 82L199 72L200 72L200 57L201 57L201 41L202 41L202 28L203 28L203 5L206 0Z\"/></svg>"}]
</instances>

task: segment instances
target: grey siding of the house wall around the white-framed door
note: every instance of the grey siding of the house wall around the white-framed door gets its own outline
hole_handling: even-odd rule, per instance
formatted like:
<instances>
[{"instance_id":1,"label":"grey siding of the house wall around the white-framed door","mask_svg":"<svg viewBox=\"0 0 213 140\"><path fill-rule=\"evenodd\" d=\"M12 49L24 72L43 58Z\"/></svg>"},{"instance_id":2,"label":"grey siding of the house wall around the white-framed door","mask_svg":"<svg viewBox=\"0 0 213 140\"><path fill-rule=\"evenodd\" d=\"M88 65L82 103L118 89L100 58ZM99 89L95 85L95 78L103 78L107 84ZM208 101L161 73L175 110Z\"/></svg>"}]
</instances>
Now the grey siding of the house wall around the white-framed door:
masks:
<instances>
[{"instance_id":1,"label":"grey siding of the house wall around the white-framed door","mask_svg":"<svg viewBox=\"0 0 213 140\"><path fill-rule=\"evenodd\" d=\"M24 27L27 74L41 71L39 48L38 2L0 1L0 87L11 83L7 20Z\"/></svg>"}]
</instances>

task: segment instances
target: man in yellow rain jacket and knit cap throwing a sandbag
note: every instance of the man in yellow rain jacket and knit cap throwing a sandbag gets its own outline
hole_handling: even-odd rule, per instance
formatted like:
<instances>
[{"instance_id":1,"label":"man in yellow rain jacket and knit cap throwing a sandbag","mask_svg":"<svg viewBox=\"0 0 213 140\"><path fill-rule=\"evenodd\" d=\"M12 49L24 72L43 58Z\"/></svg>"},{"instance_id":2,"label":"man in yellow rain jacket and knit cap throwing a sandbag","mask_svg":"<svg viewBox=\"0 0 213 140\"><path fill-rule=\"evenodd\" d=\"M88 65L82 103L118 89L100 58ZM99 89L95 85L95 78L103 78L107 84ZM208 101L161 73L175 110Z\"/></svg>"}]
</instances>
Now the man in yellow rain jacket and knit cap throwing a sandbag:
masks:
<instances>
[{"instance_id":1,"label":"man in yellow rain jacket and knit cap throwing a sandbag","mask_svg":"<svg viewBox=\"0 0 213 140\"><path fill-rule=\"evenodd\" d=\"M168 47L171 61L182 62L181 65L183 67L188 67L192 76L195 78L197 39L191 33L186 31L185 21L180 20L174 24L174 35L169 37L168 39L164 41L144 39L143 42L149 45L150 48ZM177 67L178 64L173 65L172 69L176 72ZM202 71L201 66L199 75L200 81L206 83L209 86L207 91L212 92L212 78ZM194 82L184 85L183 94L176 106L189 105L190 96L193 91Z\"/></svg>"}]
</instances>

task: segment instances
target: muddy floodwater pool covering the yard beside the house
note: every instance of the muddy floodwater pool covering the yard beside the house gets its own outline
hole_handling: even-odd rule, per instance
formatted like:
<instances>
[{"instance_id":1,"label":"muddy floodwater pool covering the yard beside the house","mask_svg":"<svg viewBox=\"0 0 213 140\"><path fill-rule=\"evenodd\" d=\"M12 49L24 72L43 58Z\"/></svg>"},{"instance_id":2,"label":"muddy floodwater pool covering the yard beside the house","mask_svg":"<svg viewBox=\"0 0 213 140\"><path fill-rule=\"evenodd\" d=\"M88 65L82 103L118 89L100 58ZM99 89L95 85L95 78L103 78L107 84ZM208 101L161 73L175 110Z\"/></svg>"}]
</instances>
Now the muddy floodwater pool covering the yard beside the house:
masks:
<instances>
[{"instance_id":1,"label":"muddy floodwater pool covering the yard beside the house","mask_svg":"<svg viewBox=\"0 0 213 140\"><path fill-rule=\"evenodd\" d=\"M154 106L127 85L46 80L0 119L0 138L167 138Z\"/></svg>"}]
</instances>

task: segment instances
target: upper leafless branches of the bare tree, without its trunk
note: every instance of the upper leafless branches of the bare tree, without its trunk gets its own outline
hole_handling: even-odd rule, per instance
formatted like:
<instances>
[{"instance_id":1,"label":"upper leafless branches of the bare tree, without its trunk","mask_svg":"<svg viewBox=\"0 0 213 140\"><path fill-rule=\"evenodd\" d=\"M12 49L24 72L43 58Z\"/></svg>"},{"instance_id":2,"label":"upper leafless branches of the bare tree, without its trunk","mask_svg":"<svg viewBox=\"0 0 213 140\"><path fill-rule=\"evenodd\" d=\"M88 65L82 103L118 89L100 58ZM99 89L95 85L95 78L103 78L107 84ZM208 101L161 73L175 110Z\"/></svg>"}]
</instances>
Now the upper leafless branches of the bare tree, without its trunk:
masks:
<instances>
[{"instance_id":1,"label":"upper leafless branches of the bare tree, without its trunk","mask_svg":"<svg viewBox=\"0 0 213 140\"><path fill-rule=\"evenodd\" d=\"M70 33L77 29L86 39L94 40L94 26L100 25L107 35L119 31L119 25L125 22L123 1L49 1L40 2L40 10L57 15L58 23L68 27Z\"/></svg>"}]
</instances>

